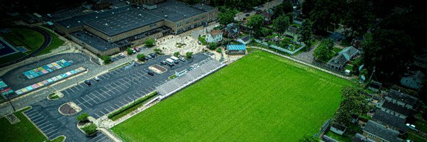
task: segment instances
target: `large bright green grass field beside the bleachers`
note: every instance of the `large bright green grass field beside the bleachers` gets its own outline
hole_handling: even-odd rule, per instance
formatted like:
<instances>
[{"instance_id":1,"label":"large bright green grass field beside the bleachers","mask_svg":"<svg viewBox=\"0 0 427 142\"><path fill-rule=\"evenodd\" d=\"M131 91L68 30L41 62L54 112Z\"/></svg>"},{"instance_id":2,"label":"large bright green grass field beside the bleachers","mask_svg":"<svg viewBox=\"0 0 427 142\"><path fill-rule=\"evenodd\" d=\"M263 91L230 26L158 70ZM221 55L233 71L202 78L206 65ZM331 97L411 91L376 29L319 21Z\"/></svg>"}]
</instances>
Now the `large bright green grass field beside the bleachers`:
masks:
<instances>
[{"instance_id":1,"label":"large bright green grass field beside the bleachers","mask_svg":"<svg viewBox=\"0 0 427 142\"><path fill-rule=\"evenodd\" d=\"M125 141L297 141L330 119L345 84L257 50L112 131Z\"/></svg>"}]
</instances>

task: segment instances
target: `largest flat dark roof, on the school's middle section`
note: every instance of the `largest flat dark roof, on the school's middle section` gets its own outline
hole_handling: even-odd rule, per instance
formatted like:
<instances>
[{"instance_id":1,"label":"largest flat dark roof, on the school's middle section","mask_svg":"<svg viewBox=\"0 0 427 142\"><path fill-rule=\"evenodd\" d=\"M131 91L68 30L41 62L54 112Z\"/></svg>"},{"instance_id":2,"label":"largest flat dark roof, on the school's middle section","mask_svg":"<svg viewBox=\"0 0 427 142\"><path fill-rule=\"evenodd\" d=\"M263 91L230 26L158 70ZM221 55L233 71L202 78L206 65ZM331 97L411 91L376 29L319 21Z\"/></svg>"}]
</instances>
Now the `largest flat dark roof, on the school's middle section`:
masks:
<instances>
[{"instance_id":1,"label":"largest flat dark roof, on the school's middle section","mask_svg":"<svg viewBox=\"0 0 427 142\"><path fill-rule=\"evenodd\" d=\"M122 13L115 13L104 18L98 18L93 21L87 21L85 24L97 29L97 31L112 36L159 21L162 21L162 18L152 16L139 9L133 9Z\"/></svg>"}]
</instances>

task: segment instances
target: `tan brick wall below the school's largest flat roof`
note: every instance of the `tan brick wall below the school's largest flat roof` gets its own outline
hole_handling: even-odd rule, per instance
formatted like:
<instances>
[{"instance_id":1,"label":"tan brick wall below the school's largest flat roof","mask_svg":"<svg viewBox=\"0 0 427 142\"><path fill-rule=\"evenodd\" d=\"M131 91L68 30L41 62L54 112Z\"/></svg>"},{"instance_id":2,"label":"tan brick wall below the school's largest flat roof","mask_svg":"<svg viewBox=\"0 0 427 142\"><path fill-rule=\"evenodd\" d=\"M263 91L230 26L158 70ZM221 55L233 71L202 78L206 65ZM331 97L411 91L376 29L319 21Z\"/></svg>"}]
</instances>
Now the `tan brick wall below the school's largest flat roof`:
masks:
<instances>
[{"instance_id":1,"label":"tan brick wall below the school's largest flat roof","mask_svg":"<svg viewBox=\"0 0 427 142\"><path fill-rule=\"evenodd\" d=\"M149 24L147 26L143 26L141 28L136 28L136 29L134 29L132 31L127 31L125 33L120 33L118 35L114 35L114 36L111 36L111 37L109 35L106 35L105 33L97 31L97 29L92 28L91 26L85 25L84 27L85 27L86 30L90 31L90 33L93 33L93 34L101 37L102 39L105 39L107 41L111 40L112 42L116 42L118 40L129 38L129 37L131 37L133 35L137 35L139 33L144 33L146 31L150 31L150 30L152 30L154 28L159 28L161 26L164 26L164 21L159 21L157 23L152 23L152 24Z\"/></svg>"}]
</instances>

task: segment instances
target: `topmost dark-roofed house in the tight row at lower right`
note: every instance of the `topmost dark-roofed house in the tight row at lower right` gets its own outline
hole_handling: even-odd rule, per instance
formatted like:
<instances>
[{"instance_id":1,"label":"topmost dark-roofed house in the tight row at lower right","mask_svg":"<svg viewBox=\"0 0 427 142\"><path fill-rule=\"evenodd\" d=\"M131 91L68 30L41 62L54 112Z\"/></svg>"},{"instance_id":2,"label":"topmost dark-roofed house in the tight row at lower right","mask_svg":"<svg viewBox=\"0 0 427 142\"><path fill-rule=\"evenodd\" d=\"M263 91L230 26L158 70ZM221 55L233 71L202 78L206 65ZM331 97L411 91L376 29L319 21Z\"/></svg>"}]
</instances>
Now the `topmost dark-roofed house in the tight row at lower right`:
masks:
<instances>
[{"instance_id":1,"label":"topmost dark-roofed house in the tight row at lower right","mask_svg":"<svg viewBox=\"0 0 427 142\"><path fill-rule=\"evenodd\" d=\"M389 93L387 93L384 98L389 102L394 102L410 109L413 109L418 102L418 98L412 97L402 92L398 92L394 89L390 89Z\"/></svg>"}]
</instances>

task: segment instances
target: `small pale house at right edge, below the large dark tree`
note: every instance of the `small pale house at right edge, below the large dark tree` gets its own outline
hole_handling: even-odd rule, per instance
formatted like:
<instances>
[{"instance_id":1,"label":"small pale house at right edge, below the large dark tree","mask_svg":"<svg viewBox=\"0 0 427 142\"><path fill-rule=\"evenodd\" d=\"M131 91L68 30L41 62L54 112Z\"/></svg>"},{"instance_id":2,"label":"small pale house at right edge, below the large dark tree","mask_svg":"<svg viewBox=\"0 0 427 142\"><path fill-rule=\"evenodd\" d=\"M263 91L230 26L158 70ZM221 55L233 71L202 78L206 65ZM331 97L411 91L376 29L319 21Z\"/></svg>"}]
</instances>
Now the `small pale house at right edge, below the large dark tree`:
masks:
<instances>
[{"instance_id":1,"label":"small pale house at right edge, below the large dark tree","mask_svg":"<svg viewBox=\"0 0 427 142\"><path fill-rule=\"evenodd\" d=\"M420 89L422 87L423 78L426 75L421 71L406 72L401 78L401 84L412 89Z\"/></svg>"}]
</instances>

